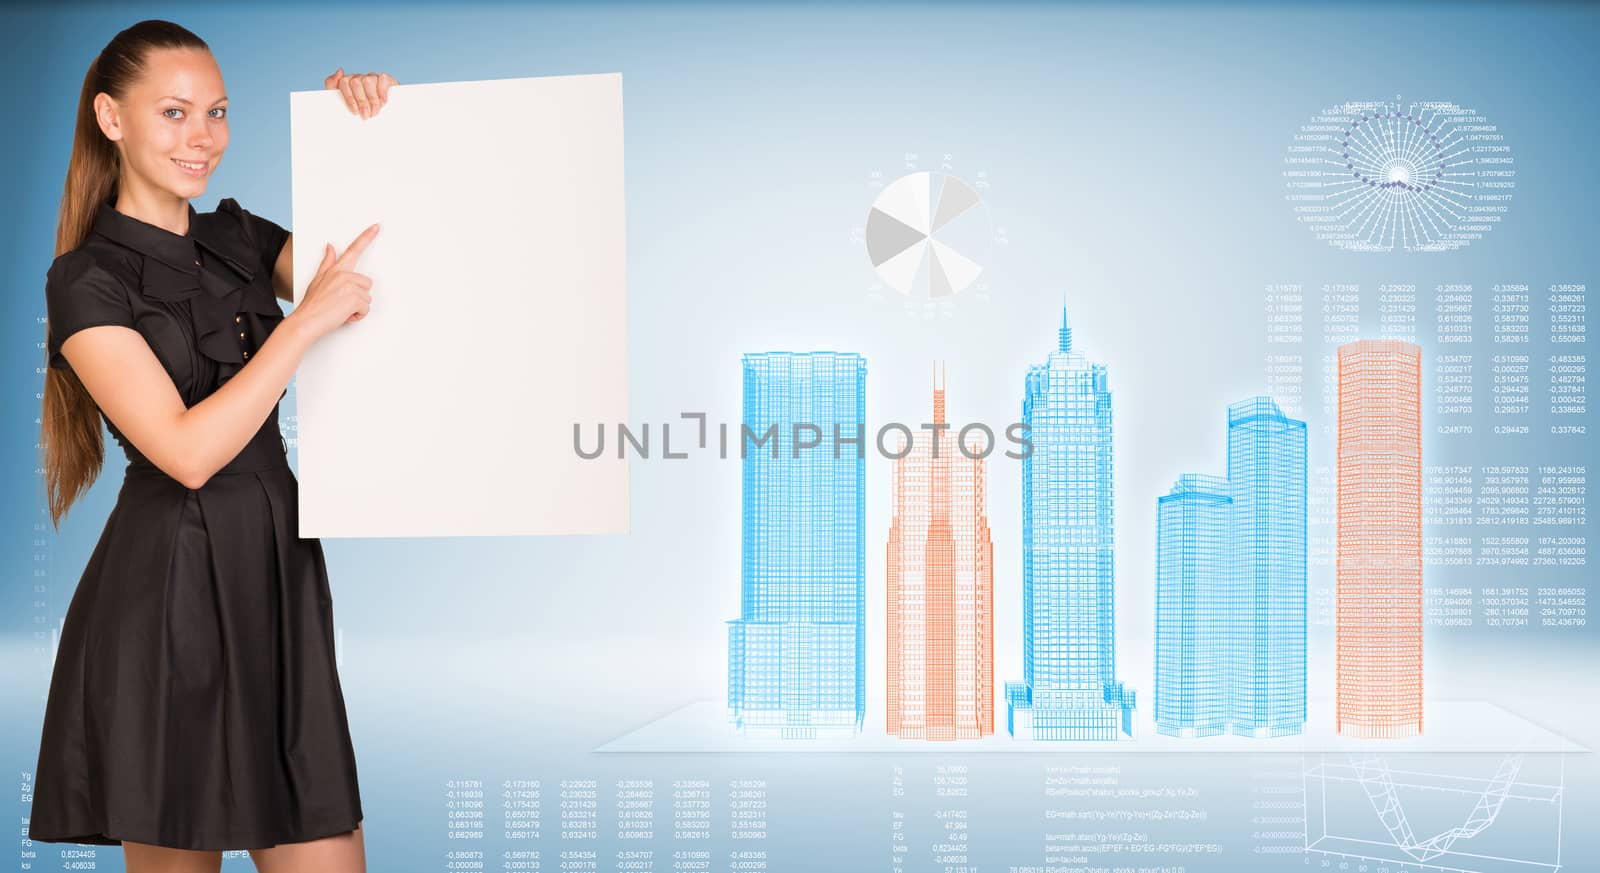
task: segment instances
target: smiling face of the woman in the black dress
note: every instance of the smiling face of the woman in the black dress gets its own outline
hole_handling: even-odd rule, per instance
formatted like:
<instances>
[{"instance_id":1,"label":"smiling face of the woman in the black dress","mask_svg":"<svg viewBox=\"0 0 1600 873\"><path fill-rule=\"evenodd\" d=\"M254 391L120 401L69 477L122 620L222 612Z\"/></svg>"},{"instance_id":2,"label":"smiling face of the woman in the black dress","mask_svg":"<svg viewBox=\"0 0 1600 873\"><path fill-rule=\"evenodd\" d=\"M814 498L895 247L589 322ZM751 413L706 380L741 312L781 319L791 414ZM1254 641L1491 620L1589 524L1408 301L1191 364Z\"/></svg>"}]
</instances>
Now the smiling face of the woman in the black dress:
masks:
<instances>
[{"instance_id":1,"label":"smiling face of the woman in the black dress","mask_svg":"<svg viewBox=\"0 0 1600 873\"><path fill-rule=\"evenodd\" d=\"M194 198L205 193L227 149L222 70L210 51L152 51L122 101L94 98L101 130L122 152L123 184ZM133 174L134 179L128 179Z\"/></svg>"}]
</instances>

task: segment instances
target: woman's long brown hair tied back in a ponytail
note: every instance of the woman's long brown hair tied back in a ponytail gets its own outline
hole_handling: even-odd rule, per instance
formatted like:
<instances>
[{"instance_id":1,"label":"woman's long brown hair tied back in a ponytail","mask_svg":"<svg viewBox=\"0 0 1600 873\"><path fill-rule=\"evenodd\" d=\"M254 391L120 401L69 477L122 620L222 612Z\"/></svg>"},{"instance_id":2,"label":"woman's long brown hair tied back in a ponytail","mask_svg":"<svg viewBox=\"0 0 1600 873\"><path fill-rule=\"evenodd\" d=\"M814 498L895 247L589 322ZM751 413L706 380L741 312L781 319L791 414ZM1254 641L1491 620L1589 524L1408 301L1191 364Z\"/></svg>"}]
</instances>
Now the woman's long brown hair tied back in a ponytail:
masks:
<instances>
[{"instance_id":1,"label":"woman's long brown hair tied back in a ponytail","mask_svg":"<svg viewBox=\"0 0 1600 873\"><path fill-rule=\"evenodd\" d=\"M125 99L128 88L144 74L150 53L162 48L211 51L205 40L184 27L171 21L149 19L112 37L83 75L72 133L72 158L67 161L67 184L61 193L61 217L56 222L58 257L83 245L94 225L94 213L117 192L122 174L117 144L106 139L94 118L94 94L104 91L118 101ZM50 329L48 321L45 329ZM106 441L101 436L99 408L83 382L69 371L50 366L48 360L38 441L50 521L59 528L67 507L99 476L106 462Z\"/></svg>"}]
</instances>

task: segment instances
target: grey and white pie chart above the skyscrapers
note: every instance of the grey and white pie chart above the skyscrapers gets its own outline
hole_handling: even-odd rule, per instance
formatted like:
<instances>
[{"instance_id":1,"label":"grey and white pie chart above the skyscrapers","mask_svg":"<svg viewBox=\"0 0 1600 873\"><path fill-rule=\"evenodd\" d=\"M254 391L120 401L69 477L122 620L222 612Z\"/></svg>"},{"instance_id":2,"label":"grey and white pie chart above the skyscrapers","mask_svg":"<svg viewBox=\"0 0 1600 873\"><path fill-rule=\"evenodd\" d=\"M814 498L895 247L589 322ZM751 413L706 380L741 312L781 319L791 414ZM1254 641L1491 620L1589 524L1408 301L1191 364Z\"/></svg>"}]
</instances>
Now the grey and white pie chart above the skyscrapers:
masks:
<instances>
[{"instance_id":1,"label":"grey and white pie chart above the skyscrapers","mask_svg":"<svg viewBox=\"0 0 1600 873\"><path fill-rule=\"evenodd\" d=\"M947 173L912 173L888 184L867 213L867 257L906 296L946 299L978 280L994 238L978 192Z\"/></svg>"}]
</instances>

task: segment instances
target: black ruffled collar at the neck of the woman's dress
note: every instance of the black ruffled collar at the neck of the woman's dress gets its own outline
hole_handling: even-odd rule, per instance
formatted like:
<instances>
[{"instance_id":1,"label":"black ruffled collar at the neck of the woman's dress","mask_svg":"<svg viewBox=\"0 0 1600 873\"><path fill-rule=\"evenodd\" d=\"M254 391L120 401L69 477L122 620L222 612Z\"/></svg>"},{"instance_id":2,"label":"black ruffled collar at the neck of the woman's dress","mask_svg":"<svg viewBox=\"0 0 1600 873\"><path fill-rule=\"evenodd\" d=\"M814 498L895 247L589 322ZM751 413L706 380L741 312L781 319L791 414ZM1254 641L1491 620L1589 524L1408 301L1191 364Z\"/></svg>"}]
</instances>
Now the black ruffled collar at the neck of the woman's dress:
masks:
<instances>
[{"instance_id":1,"label":"black ruffled collar at the neck of the woman's dress","mask_svg":"<svg viewBox=\"0 0 1600 873\"><path fill-rule=\"evenodd\" d=\"M189 230L165 227L118 213L106 198L93 232L144 254L141 293L152 301L190 301L195 345L219 363L243 365L234 339L240 312L282 317L270 281L256 281L258 253L238 203L226 198L214 213L189 205Z\"/></svg>"}]
</instances>

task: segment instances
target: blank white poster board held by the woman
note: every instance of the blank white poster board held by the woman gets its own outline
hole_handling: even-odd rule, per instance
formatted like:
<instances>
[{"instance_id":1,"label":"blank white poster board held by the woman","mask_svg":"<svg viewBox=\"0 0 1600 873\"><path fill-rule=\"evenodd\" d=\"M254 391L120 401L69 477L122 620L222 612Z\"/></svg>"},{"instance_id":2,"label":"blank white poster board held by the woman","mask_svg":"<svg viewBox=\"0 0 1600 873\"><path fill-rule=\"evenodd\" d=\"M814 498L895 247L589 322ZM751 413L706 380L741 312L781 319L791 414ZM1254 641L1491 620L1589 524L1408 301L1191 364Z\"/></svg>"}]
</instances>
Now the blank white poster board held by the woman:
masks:
<instances>
[{"instance_id":1,"label":"blank white poster board held by the woman","mask_svg":"<svg viewBox=\"0 0 1600 873\"><path fill-rule=\"evenodd\" d=\"M381 224L296 382L299 536L626 534L622 75L290 94L294 299Z\"/></svg>"}]
</instances>

